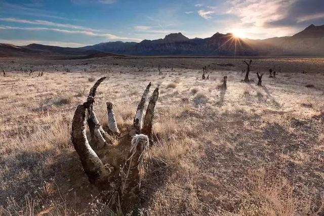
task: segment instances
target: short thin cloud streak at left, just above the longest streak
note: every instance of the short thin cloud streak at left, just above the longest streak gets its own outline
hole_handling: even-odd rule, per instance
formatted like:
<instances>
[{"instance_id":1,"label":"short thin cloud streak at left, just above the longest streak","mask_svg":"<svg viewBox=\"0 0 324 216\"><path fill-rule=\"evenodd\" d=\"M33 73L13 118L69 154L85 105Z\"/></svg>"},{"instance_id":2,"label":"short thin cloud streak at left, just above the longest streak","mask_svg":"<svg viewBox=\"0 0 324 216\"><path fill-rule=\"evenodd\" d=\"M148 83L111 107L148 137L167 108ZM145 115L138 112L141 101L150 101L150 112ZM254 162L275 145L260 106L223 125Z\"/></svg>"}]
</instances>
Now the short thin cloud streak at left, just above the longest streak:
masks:
<instances>
[{"instance_id":1,"label":"short thin cloud streak at left, just above the longest streak","mask_svg":"<svg viewBox=\"0 0 324 216\"><path fill-rule=\"evenodd\" d=\"M17 18L0 18L0 20L7 21L7 22L26 23L26 24L32 24L32 25L46 25L46 26L56 26L56 27L62 27L62 28L80 29L80 30L87 30L87 31L100 31L100 30L96 30L96 29L88 28L88 27L84 27L84 26L62 24L62 23L50 22L50 21L46 21L46 20L23 20L23 19L17 19Z\"/></svg>"}]
</instances>

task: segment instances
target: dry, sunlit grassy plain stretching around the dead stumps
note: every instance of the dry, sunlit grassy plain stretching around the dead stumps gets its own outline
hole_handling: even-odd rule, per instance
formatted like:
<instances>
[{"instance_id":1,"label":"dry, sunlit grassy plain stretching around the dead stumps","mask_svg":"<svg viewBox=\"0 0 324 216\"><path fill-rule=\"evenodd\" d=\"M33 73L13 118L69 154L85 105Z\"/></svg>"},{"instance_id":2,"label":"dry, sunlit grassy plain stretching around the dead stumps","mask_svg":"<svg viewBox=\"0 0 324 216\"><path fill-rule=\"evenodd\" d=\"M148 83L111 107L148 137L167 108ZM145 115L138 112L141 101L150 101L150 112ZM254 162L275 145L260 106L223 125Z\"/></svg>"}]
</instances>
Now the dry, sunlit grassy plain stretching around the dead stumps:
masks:
<instances>
[{"instance_id":1,"label":"dry, sunlit grassy plain stretching around the dead stumps","mask_svg":"<svg viewBox=\"0 0 324 216\"><path fill-rule=\"evenodd\" d=\"M71 142L77 105L106 76L96 115L106 128L111 101L121 132L132 126L147 84L149 97L159 86L158 140L149 146L138 213L322 215L324 59L252 59L250 82L242 81L244 60L0 60L0 214L129 213L89 183ZM264 73L262 86L256 72Z\"/></svg>"}]
</instances>

